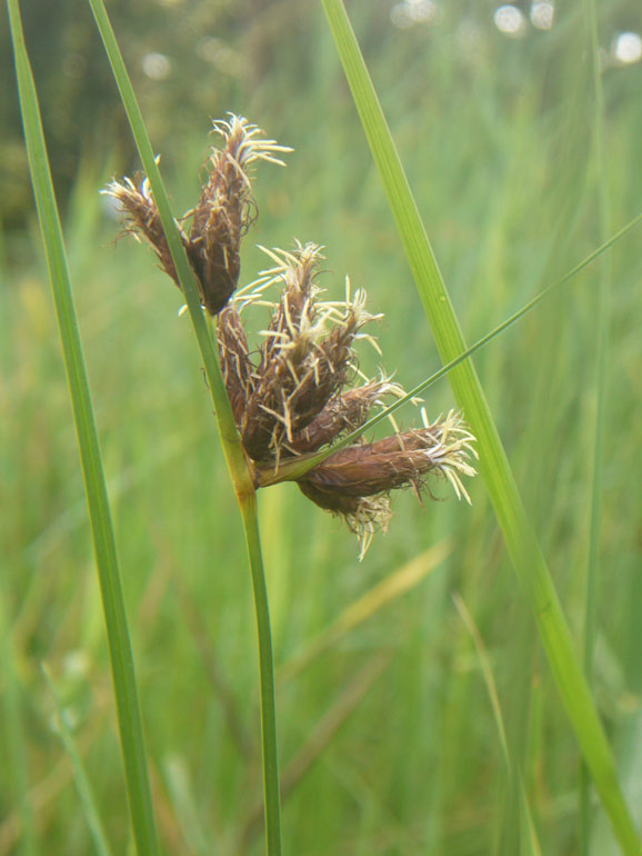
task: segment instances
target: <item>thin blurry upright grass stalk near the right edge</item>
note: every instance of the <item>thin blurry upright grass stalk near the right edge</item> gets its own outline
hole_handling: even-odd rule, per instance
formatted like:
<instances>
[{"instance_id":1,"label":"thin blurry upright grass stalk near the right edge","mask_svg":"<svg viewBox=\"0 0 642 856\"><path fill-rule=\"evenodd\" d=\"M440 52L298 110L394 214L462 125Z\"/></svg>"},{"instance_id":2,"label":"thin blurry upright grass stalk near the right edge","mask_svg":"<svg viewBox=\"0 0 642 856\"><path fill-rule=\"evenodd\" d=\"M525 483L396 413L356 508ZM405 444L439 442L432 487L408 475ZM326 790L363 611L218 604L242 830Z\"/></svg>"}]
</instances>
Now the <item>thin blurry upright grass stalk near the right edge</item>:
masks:
<instances>
[{"instance_id":1,"label":"thin blurry upright grass stalk near the right edge","mask_svg":"<svg viewBox=\"0 0 642 856\"><path fill-rule=\"evenodd\" d=\"M598 205L600 212L600 239L609 233L611 211L606 182L606 159L604 156L604 89L600 69L600 44L598 38L598 10L595 0L586 0L589 43L592 59L593 93L593 163L596 170ZM599 574L600 532L602 528L602 446L604 439L604 414L606 408L606 369L609 362L609 338L611 324L612 272L610 257L602 258L598 269L599 291L596 306L595 342L595 422L593 434L593 471L591 478L591 506L589 518L589 558L586 563L586 589L584 604L584 627L582 634L582 660L589 686L593 683L593 656L595 650L595 607ZM579 856L589 856L591 847L592 807L591 782L585 763L580 768L580 836Z\"/></svg>"}]
</instances>

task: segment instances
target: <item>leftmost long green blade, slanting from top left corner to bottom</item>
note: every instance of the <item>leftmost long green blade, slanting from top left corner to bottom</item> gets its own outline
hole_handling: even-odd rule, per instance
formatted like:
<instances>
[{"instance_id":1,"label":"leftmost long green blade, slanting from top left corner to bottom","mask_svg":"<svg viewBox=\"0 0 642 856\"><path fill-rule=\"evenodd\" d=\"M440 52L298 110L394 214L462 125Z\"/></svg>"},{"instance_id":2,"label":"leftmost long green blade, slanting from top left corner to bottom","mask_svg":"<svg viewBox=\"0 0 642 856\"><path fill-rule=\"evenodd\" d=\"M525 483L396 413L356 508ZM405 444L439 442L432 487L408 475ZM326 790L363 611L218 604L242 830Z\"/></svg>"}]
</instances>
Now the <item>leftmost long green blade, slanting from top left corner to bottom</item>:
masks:
<instances>
[{"instance_id":1,"label":"leftmost long green blade, slanting from top left corner to bottom","mask_svg":"<svg viewBox=\"0 0 642 856\"><path fill-rule=\"evenodd\" d=\"M141 856L156 856L158 836L131 641L64 241L18 0L8 0L8 10L29 169L58 318L100 580L133 835Z\"/></svg>"}]
</instances>

